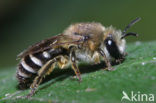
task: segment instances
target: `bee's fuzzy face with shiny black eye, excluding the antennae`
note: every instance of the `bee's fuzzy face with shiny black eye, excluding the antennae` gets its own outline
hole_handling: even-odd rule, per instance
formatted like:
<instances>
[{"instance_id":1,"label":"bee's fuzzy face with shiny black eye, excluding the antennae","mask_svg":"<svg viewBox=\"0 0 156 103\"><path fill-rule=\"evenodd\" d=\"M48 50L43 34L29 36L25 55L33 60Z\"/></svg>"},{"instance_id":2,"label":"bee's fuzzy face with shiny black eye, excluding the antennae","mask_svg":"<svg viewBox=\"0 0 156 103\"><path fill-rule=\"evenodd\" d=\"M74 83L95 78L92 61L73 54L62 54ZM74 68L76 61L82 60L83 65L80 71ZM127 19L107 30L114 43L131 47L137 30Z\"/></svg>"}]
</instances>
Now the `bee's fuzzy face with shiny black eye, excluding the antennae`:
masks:
<instances>
[{"instance_id":1,"label":"bee's fuzzy face with shiny black eye, excluding the antennae","mask_svg":"<svg viewBox=\"0 0 156 103\"><path fill-rule=\"evenodd\" d=\"M115 59L122 59L125 55L125 39L121 38L121 31L115 30L110 27L109 31L106 31L107 35L104 39L104 45L109 55Z\"/></svg>"}]
</instances>

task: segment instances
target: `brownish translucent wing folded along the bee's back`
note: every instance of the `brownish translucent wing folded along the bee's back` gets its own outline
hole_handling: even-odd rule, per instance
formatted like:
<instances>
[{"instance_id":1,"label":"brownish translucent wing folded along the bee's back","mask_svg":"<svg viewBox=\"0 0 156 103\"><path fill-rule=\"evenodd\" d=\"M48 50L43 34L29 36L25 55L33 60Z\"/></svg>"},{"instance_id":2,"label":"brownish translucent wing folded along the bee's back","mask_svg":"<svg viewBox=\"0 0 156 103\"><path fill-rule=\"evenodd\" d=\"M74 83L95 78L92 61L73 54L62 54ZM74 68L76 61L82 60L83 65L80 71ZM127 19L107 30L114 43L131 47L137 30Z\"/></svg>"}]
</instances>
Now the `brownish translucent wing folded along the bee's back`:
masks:
<instances>
[{"instance_id":1,"label":"brownish translucent wing folded along the bee's back","mask_svg":"<svg viewBox=\"0 0 156 103\"><path fill-rule=\"evenodd\" d=\"M53 36L51 38L42 40L41 42L38 42L30 47L28 47L28 49L24 50L23 52L21 52L19 55L17 55L17 59L19 58L23 58L28 54L33 54L33 53L37 53L37 52L42 52L45 50L48 50L50 48L53 48L54 46L60 46L60 45L64 45L64 44L79 44L81 41L80 36L70 36L70 35L57 35L57 36ZM59 41L58 43L56 43L57 41Z\"/></svg>"}]
</instances>

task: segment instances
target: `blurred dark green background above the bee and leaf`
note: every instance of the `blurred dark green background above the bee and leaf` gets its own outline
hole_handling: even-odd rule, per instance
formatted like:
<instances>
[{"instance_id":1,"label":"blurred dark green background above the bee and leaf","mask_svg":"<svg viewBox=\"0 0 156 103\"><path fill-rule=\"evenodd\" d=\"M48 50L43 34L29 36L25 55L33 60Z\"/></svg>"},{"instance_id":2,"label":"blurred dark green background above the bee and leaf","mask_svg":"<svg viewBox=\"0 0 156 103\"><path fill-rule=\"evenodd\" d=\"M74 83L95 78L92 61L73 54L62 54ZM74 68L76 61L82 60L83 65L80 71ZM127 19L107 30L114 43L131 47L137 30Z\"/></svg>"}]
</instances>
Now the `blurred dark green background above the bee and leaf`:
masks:
<instances>
[{"instance_id":1,"label":"blurred dark green background above the bee and leaf","mask_svg":"<svg viewBox=\"0 0 156 103\"><path fill-rule=\"evenodd\" d=\"M129 31L140 36L127 41L155 40L155 0L1 0L0 67L15 66L18 53L71 23L96 21L123 30L136 17L142 20Z\"/></svg>"}]
</instances>

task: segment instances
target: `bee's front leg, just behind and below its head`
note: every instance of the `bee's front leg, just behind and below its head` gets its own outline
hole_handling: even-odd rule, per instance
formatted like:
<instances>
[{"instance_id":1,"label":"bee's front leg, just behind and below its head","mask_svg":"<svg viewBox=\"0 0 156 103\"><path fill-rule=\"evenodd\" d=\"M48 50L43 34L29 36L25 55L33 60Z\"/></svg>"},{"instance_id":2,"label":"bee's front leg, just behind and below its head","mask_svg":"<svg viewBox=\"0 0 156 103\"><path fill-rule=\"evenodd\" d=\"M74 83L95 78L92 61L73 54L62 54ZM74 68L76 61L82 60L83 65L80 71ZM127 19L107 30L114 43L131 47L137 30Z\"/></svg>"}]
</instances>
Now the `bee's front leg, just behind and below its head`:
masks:
<instances>
[{"instance_id":1,"label":"bee's front leg, just behind and below its head","mask_svg":"<svg viewBox=\"0 0 156 103\"><path fill-rule=\"evenodd\" d=\"M114 70L114 68L112 68L112 65L111 65L110 61L107 59L106 54L104 53L104 51L102 49L100 49L100 48L99 48L98 51L101 54L101 56L104 58L104 61L105 61L106 66L107 66L106 70L109 70L109 71Z\"/></svg>"}]
</instances>

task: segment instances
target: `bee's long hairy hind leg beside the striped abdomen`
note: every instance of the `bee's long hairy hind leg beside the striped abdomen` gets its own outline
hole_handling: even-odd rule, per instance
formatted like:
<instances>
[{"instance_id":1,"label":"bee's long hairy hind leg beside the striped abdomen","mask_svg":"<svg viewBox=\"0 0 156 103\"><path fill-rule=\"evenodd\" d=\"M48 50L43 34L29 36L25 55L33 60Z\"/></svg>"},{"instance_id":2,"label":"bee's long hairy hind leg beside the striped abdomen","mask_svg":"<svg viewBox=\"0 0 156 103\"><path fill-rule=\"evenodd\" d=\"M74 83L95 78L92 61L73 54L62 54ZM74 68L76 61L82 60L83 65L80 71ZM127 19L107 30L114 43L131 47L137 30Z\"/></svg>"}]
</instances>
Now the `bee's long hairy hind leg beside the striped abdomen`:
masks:
<instances>
[{"instance_id":1,"label":"bee's long hairy hind leg beside the striped abdomen","mask_svg":"<svg viewBox=\"0 0 156 103\"><path fill-rule=\"evenodd\" d=\"M31 91L27 95L27 98L30 98L35 93L37 87L42 82L43 77L45 77L47 74L50 74L55 67L56 58L49 60L39 71L38 76L34 79L33 83L31 84L30 88Z\"/></svg>"}]
</instances>

